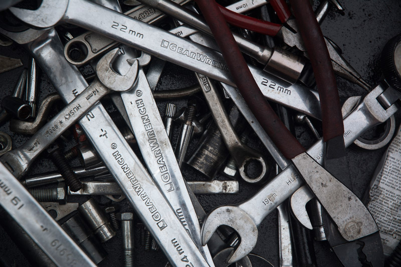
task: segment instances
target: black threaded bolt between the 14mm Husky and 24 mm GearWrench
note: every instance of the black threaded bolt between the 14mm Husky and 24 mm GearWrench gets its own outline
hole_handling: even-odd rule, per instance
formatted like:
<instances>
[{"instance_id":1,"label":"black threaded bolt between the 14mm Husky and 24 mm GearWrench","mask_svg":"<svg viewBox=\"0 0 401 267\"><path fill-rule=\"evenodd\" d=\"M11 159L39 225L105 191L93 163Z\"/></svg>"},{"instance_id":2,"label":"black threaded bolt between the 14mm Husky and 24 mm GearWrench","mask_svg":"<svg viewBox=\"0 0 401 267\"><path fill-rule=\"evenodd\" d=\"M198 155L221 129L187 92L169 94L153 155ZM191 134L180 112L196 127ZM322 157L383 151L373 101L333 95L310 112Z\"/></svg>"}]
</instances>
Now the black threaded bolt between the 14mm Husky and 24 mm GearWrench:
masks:
<instances>
[{"instance_id":1,"label":"black threaded bolt between the 14mm Husky and 24 mm GearWrench","mask_svg":"<svg viewBox=\"0 0 401 267\"><path fill-rule=\"evenodd\" d=\"M68 161L62 154L59 146L57 144L53 144L47 149L47 151L50 155L50 158L59 169L61 175L63 175L67 185L70 186L70 190L76 192L82 189L82 183L80 180L78 180Z\"/></svg>"}]
</instances>

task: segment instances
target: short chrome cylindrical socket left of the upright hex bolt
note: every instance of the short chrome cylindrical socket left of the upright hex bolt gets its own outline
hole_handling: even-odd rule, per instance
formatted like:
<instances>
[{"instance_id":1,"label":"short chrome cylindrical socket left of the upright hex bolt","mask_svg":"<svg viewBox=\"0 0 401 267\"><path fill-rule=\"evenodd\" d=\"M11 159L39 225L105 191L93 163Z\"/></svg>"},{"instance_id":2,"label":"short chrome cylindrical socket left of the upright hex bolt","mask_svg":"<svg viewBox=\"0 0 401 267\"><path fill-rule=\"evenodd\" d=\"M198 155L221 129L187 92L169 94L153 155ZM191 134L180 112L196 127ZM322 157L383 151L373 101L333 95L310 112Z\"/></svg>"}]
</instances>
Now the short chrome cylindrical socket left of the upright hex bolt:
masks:
<instances>
[{"instance_id":1,"label":"short chrome cylindrical socket left of the upright hex bolt","mask_svg":"<svg viewBox=\"0 0 401 267\"><path fill-rule=\"evenodd\" d=\"M89 226L95 231L95 235L101 240L101 242L105 242L116 235L116 232L113 227L111 227L106 214L93 198L79 206L78 211L88 222Z\"/></svg>"}]
</instances>

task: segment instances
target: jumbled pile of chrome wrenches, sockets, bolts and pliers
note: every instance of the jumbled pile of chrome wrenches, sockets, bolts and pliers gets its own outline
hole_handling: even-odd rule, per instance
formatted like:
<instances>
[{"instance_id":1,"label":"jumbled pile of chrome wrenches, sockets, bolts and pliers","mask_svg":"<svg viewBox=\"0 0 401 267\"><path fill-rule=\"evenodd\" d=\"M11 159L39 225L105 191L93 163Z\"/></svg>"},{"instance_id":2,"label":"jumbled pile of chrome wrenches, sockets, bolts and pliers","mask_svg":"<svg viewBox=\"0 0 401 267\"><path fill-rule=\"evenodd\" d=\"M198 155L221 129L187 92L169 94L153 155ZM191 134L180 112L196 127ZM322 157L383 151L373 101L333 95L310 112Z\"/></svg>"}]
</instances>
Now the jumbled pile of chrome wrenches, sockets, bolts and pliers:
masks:
<instances>
[{"instance_id":1,"label":"jumbled pile of chrome wrenches, sockets, bolts and pliers","mask_svg":"<svg viewBox=\"0 0 401 267\"><path fill-rule=\"evenodd\" d=\"M272 249L281 266L316 266L313 239L331 247L327 253L338 257L332 266L384 265L397 242L385 241L391 233L373 197L362 201L353 190L345 147L383 149L392 139L401 38L384 47L383 76L371 86L321 37L331 72L365 92L344 101L338 126L325 107L339 107L338 91L332 103L321 94L312 38L297 13L307 6L318 26L343 12L336 0L319 1L314 13L303 0L18 2L0 4L0 45L30 54L22 72L18 59L0 58L2 71L19 68L0 123L22 136L0 132L0 224L32 265L116 263L107 253L126 266L273 265L254 248L276 209L280 247ZM295 120L310 128L317 141L307 149L277 120L267 129L262 107L236 88L237 65L216 34L226 24L210 23L212 9L230 25L235 41L227 43L238 44L258 93L276 104L285 127L295 134ZM155 90L163 69L181 88ZM44 97L49 92L40 88L52 93ZM360 137L382 123L377 140ZM58 171L43 173L49 159ZM245 199L249 188L255 193ZM233 193L233 205L208 202ZM148 251L146 262L138 252L159 248L165 257ZM391 260L386 265L401 264Z\"/></svg>"}]
</instances>

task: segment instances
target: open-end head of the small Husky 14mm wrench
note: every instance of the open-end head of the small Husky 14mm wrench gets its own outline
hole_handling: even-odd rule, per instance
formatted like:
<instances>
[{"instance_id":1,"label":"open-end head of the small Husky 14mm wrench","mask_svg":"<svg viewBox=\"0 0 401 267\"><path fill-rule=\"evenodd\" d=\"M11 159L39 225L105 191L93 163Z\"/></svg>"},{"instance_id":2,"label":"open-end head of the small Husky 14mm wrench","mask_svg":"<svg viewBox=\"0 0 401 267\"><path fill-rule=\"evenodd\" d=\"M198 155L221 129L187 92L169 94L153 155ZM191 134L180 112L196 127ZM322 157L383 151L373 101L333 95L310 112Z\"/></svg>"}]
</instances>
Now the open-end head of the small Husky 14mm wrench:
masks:
<instances>
[{"instance_id":1,"label":"open-end head of the small Husky 14mm wrench","mask_svg":"<svg viewBox=\"0 0 401 267\"><path fill-rule=\"evenodd\" d=\"M135 60L125 75L116 73L111 65L119 55L120 49L115 48L102 57L96 65L96 73L99 81L107 88L117 92L130 90L137 81L138 61Z\"/></svg>"}]
</instances>

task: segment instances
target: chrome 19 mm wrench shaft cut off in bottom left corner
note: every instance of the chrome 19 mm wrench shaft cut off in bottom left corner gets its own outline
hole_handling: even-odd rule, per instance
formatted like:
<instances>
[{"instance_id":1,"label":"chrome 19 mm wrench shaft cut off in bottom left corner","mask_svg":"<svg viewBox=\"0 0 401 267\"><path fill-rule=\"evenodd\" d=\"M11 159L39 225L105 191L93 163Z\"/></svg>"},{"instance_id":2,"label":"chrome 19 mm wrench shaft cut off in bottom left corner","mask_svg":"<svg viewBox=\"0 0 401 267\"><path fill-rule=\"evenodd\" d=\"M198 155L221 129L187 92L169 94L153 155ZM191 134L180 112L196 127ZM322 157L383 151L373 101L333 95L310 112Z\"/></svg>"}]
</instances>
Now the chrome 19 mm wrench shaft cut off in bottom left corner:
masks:
<instances>
[{"instance_id":1,"label":"chrome 19 mm wrench shaft cut off in bottom left corner","mask_svg":"<svg viewBox=\"0 0 401 267\"><path fill-rule=\"evenodd\" d=\"M58 266L96 266L41 204L0 163L0 205Z\"/></svg>"}]
</instances>

